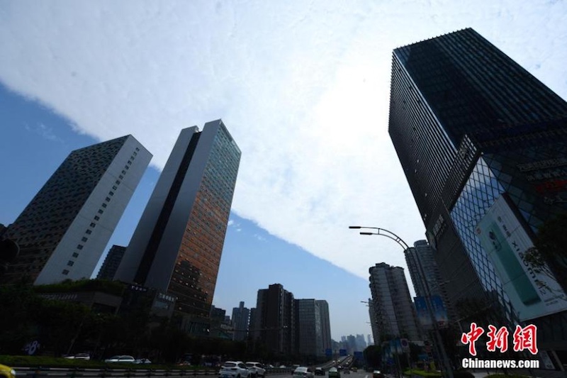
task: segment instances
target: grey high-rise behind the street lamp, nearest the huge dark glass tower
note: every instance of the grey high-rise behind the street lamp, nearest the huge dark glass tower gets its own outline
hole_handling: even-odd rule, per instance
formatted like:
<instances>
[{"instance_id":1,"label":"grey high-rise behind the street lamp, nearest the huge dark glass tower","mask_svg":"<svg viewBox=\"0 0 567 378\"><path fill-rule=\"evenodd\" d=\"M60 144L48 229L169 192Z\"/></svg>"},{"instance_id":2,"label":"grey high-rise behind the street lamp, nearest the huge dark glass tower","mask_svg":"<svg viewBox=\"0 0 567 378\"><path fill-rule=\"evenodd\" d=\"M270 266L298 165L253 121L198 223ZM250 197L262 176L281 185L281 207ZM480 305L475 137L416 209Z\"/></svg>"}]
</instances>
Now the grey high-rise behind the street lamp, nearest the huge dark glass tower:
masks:
<instances>
[{"instance_id":1,"label":"grey high-rise behind the street lamp, nearest the huge dark glass tower","mask_svg":"<svg viewBox=\"0 0 567 378\"><path fill-rule=\"evenodd\" d=\"M456 319L451 311L446 289L451 282L442 279L435 261L435 250L427 243L427 240L417 240L413 243L413 247L404 251L404 254L417 297L427 301L427 297L432 296L431 301L434 306L439 306L439 309L444 308L449 318ZM427 292L427 289L430 292Z\"/></svg>"}]
</instances>

